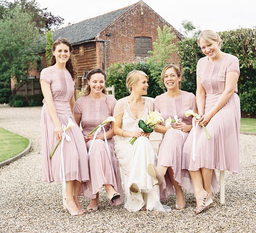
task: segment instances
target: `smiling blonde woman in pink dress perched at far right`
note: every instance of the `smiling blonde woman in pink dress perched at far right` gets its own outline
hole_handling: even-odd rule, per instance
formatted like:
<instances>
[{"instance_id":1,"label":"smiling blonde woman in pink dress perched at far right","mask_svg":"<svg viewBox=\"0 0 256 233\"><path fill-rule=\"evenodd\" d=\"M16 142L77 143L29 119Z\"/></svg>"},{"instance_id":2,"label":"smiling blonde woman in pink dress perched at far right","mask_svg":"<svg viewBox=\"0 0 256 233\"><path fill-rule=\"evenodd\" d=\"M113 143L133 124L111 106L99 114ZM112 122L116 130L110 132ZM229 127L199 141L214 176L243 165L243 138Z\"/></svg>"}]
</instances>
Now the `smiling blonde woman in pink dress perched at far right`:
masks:
<instances>
[{"instance_id":1,"label":"smiling blonde woman in pink dress perched at far right","mask_svg":"<svg viewBox=\"0 0 256 233\"><path fill-rule=\"evenodd\" d=\"M211 188L214 169L239 173L240 100L237 81L238 58L220 50L222 40L211 30L202 31L197 40L206 55L197 63L196 103L200 121L197 127L195 158L192 158L193 134L183 147L182 168L188 169L193 181L197 207L195 213L213 206Z\"/></svg>"}]
</instances>

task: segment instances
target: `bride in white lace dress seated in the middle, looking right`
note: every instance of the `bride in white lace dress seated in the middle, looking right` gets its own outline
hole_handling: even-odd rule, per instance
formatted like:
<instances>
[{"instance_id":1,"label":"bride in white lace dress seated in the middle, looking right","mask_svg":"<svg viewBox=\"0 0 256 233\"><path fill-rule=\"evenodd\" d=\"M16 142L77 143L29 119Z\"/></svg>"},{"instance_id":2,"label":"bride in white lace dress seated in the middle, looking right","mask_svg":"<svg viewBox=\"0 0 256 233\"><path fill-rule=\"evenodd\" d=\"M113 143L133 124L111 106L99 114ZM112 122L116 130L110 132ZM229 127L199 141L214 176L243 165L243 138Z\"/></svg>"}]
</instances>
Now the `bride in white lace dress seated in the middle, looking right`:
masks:
<instances>
[{"instance_id":1,"label":"bride in white lace dress seated in the middle, looking right","mask_svg":"<svg viewBox=\"0 0 256 233\"><path fill-rule=\"evenodd\" d=\"M148 112L153 111L153 102L142 97L147 95L148 77L142 71L131 71L126 86L131 94L118 100L114 110L114 148L123 170L124 208L128 211L166 211L160 203L159 186L152 185L152 178L147 173L147 165L155 164L155 152L149 135L141 132L138 126L139 120L145 120ZM133 145L129 142L132 137L137 137Z\"/></svg>"}]
</instances>

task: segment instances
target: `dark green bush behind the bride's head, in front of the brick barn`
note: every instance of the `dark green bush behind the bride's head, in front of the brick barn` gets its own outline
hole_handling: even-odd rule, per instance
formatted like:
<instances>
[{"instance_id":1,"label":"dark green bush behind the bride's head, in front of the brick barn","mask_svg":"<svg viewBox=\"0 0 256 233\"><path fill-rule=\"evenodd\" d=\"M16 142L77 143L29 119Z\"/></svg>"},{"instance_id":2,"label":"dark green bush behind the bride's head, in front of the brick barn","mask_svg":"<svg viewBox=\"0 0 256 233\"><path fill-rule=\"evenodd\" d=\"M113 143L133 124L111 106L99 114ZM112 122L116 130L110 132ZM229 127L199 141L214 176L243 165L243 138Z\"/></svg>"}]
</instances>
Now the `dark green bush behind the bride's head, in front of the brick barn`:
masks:
<instances>
[{"instance_id":1,"label":"dark green bush behind the bride's head, in front of the brick barn","mask_svg":"<svg viewBox=\"0 0 256 233\"><path fill-rule=\"evenodd\" d=\"M115 86L115 98L117 100L129 95L125 83L128 73L133 70L140 70L148 75L148 97L155 98L164 92L164 85L160 80L162 67L154 63L149 64L143 62L125 63L123 65L115 63L107 69L106 85Z\"/></svg>"}]
</instances>

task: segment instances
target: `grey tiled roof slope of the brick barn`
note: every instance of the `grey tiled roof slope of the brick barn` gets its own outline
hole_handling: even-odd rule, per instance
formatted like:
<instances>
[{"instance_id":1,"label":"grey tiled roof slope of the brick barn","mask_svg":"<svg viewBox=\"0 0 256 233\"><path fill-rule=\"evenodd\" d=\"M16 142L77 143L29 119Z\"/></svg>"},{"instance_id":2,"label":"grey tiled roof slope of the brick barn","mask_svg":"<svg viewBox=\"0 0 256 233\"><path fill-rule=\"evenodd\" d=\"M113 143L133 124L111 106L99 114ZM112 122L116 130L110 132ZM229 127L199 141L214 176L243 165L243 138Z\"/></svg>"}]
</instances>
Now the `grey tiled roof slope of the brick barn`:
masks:
<instances>
[{"instance_id":1,"label":"grey tiled roof slope of the brick barn","mask_svg":"<svg viewBox=\"0 0 256 233\"><path fill-rule=\"evenodd\" d=\"M134 5L135 4L53 31L53 41L57 40L59 37L62 37L67 39L73 45L94 39L98 33L100 33ZM45 43L45 36L43 40Z\"/></svg>"}]
</instances>

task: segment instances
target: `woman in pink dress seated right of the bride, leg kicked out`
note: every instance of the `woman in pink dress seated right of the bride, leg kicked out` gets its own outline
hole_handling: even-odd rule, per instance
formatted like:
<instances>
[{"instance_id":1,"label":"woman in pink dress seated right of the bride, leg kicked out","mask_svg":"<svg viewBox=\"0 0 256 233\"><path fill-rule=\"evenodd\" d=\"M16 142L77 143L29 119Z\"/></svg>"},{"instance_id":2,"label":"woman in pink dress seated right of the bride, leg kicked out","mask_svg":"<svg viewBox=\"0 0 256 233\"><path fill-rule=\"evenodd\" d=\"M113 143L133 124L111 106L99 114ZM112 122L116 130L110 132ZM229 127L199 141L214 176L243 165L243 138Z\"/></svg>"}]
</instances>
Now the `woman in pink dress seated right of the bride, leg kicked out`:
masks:
<instances>
[{"instance_id":1,"label":"woman in pink dress seated right of the bride, leg kicked out","mask_svg":"<svg viewBox=\"0 0 256 233\"><path fill-rule=\"evenodd\" d=\"M181 157L183 144L192 128L192 116L186 117L189 109L197 112L196 97L193 93L180 90L180 69L175 65L167 65L161 74L161 81L167 92L157 96L154 101L154 110L162 114L163 125L155 128L156 132L163 134L159 145L157 167L148 165L148 173L157 179L160 185L160 199L166 199L170 194L176 193L176 209L186 208L181 188L182 177L185 171L181 170ZM177 115L178 123L172 127L165 127L167 118ZM190 184L190 183L189 183ZM186 189L191 190L190 185Z\"/></svg>"}]
</instances>

